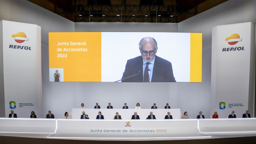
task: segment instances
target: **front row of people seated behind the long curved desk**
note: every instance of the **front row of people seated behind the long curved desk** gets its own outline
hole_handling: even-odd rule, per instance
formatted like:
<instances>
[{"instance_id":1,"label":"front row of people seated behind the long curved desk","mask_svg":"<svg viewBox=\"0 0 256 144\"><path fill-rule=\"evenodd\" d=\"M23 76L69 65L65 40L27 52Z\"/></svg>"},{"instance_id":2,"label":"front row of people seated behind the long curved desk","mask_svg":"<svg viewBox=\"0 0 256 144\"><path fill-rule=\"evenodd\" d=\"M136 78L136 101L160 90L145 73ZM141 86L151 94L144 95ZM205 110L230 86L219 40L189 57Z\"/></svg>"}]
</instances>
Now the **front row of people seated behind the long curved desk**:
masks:
<instances>
[{"instance_id":1,"label":"front row of people seated behind the long curved desk","mask_svg":"<svg viewBox=\"0 0 256 144\"><path fill-rule=\"evenodd\" d=\"M172 119L172 115L170 112L167 113L168 115L165 116L165 119ZM199 115L197 115L197 118L205 118L204 115L202 115L202 111L199 111ZM101 117L102 116L102 117ZM138 116L138 118L137 118ZM14 110L11 110L11 114L9 114L9 118L17 118L17 114L14 113ZM245 114L243 114L242 118L250 118L251 115L249 114L249 111L246 110ZM30 118L37 118L34 111L31 111ZM46 115L46 118L54 118L54 115L52 114L51 110L48 111L48 114ZM65 119L71 118L68 116L68 112L65 113ZM211 118L219 118L219 115L217 111L214 112ZM236 118L235 111L231 111L231 114L228 116L228 118ZM85 115L85 112L83 111L83 115L81 115L81 119L89 119L88 115ZM99 111L99 115L97 115L96 119L104 119L104 116L101 115L101 111ZM118 113L116 113L116 116L114 119L122 119ZM131 119L140 119L139 115L137 115L137 112L134 112L134 115ZM153 115L153 112L150 112L150 115L146 119L156 119L155 115ZM185 111L181 119L189 119L188 112Z\"/></svg>"}]
</instances>

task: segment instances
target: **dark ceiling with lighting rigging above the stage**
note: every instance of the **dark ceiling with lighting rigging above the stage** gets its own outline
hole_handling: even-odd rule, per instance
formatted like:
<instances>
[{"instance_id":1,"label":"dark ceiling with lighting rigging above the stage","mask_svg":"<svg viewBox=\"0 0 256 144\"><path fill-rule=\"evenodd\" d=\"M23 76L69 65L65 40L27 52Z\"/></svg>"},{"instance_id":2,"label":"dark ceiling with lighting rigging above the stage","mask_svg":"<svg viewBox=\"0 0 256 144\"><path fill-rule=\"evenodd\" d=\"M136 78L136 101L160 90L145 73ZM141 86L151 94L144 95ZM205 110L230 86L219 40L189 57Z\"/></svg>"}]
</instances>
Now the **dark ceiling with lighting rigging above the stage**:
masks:
<instances>
[{"instance_id":1,"label":"dark ceiling with lighting rigging above the stage","mask_svg":"<svg viewBox=\"0 0 256 144\"><path fill-rule=\"evenodd\" d=\"M228 0L28 0L74 22L177 23Z\"/></svg>"}]
</instances>

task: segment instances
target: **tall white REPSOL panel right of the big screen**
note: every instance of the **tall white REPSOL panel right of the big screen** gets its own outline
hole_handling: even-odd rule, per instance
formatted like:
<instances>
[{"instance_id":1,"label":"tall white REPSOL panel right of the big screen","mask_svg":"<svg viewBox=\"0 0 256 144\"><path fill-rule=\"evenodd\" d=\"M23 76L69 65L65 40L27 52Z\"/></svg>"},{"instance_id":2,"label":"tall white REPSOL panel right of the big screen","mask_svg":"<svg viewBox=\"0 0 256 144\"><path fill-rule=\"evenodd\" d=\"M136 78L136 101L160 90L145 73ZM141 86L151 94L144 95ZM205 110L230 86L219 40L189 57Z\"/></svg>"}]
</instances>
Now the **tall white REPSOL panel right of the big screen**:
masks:
<instances>
[{"instance_id":1,"label":"tall white REPSOL panel right of the big screen","mask_svg":"<svg viewBox=\"0 0 256 144\"><path fill-rule=\"evenodd\" d=\"M255 23L237 23L212 29L211 114L225 118L231 111L242 117L253 102ZM252 113L251 109L251 113Z\"/></svg>"}]
</instances>

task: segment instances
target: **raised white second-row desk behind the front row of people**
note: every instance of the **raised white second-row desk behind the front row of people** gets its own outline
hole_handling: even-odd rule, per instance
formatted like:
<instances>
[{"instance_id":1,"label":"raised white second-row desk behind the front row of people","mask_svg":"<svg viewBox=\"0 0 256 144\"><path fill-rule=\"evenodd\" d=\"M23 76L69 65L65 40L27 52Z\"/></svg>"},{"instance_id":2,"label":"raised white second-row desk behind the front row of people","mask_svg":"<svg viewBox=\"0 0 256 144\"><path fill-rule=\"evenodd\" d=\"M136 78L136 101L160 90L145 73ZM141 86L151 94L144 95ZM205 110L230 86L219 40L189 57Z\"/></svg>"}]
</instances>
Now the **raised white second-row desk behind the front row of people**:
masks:
<instances>
[{"instance_id":1,"label":"raised white second-row desk behind the front row of people","mask_svg":"<svg viewBox=\"0 0 256 144\"><path fill-rule=\"evenodd\" d=\"M90 109L90 108L73 108L72 109L72 119L80 119L81 115L85 111L85 114L89 116L90 119L96 119L99 111L104 116L104 119L114 119L116 113L121 115L122 119L131 119L134 112L140 116L140 119L146 119L150 115L150 111L153 112L156 119L164 119L168 112L171 113L173 119L180 119L181 112L180 109ZM70 114L69 114L70 115Z\"/></svg>"}]
</instances>

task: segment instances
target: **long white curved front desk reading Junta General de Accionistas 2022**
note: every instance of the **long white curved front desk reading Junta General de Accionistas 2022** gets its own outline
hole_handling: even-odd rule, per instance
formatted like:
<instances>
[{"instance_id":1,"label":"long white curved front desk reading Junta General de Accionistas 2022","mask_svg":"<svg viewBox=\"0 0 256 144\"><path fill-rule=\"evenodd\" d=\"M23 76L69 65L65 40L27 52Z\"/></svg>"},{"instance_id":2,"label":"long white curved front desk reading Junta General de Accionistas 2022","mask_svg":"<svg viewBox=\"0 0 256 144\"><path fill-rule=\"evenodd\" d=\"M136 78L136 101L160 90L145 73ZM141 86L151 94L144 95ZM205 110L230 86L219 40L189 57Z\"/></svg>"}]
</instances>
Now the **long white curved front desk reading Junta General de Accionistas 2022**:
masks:
<instances>
[{"instance_id":1,"label":"long white curved front desk reading Junta General de Accionistas 2022","mask_svg":"<svg viewBox=\"0 0 256 144\"><path fill-rule=\"evenodd\" d=\"M0 118L0 136L105 141L255 137L256 118L167 120Z\"/></svg>"}]
</instances>

